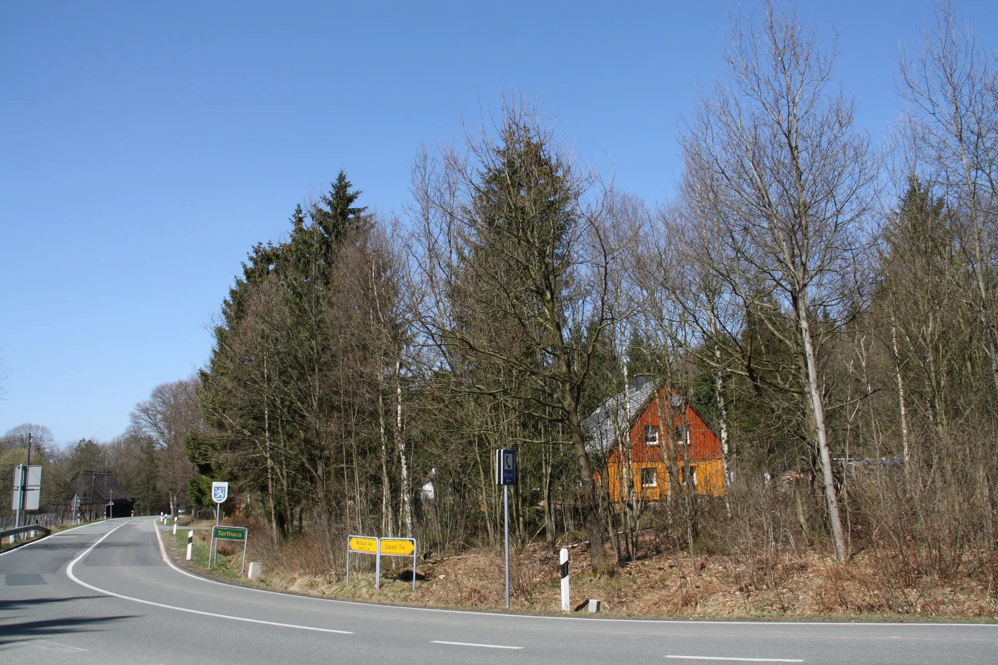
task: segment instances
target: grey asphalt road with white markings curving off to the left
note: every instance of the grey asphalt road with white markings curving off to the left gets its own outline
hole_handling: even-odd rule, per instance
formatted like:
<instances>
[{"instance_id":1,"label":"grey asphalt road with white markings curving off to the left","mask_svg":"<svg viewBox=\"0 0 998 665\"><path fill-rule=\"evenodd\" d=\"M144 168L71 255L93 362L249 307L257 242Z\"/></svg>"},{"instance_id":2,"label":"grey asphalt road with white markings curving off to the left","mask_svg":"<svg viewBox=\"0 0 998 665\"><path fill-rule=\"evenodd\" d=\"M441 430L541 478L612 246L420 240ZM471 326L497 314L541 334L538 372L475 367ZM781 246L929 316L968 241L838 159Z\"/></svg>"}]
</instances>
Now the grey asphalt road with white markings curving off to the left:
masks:
<instances>
[{"instance_id":1,"label":"grey asphalt road with white markings curving off to the left","mask_svg":"<svg viewBox=\"0 0 998 665\"><path fill-rule=\"evenodd\" d=\"M155 528L114 519L0 555L0 661L998 663L998 625L530 617L258 591L169 566Z\"/></svg>"}]
</instances>

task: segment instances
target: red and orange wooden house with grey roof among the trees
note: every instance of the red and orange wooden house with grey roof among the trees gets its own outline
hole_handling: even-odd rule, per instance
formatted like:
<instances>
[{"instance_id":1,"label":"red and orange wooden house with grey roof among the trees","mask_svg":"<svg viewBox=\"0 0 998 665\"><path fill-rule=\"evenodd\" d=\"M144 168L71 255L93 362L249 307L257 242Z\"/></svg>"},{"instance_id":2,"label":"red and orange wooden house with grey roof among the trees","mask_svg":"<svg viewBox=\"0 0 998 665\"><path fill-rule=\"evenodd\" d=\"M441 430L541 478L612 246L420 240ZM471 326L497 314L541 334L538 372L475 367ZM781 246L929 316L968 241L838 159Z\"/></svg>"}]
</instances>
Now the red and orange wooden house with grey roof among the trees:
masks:
<instances>
[{"instance_id":1,"label":"red and orange wooden house with grey roof among the trees","mask_svg":"<svg viewBox=\"0 0 998 665\"><path fill-rule=\"evenodd\" d=\"M627 499L628 482L638 499L667 499L674 491L670 453L680 491L692 484L698 495L725 494L721 441L696 409L650 376L636 377L626 395L608 399L583 427L590 451L607 456L608 491L614 501Z\"/></svg>"}]
</instances>

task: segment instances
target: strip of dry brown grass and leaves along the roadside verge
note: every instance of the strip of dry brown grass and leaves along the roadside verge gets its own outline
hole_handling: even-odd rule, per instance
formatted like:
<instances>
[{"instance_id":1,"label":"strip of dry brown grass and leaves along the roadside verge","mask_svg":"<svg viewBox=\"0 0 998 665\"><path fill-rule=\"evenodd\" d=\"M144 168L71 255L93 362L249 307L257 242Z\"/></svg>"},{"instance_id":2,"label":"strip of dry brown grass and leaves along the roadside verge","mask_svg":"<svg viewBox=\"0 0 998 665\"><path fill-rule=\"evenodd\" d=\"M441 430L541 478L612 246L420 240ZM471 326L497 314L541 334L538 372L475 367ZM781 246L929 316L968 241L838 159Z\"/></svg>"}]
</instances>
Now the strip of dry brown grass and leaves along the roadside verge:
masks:
<instances>
[{"instance_id":1,"label":"strip of dry brown grass and leaves along the roadside verge","mask_svg":"<svg viewBox=\"0 0 998 665\"><path fill-rule=\"evenodd\" d=\"M461 556L419 561L416 590L398 579L408 569L405 558L382 559L381 589L374 589L373 557L358 555L344 585L342 565L327 570L319 545L311 537L292 538L282 547L264 537L265 529L250 524L250 560L263 562L261 586L329 598L355 599L424 607L504 610L501 553L472 549ZM207 541L209 532L198 532ZM657 543L647 535L649 550ZM232 551L230 551L230 549ZM222 554L242 556L235 545L223 543ZM241 548L240 548L241 549ZM998 613L994 589L986 575L965 576L903 588L883 571L885 552L861 553L844 564L822 546L799 548L771 567L766 581L751 565L724 554L666 552L593 575L584 546L571 547L572 603L599 598L607 616L686 616L726 618L838 618L878 615L895 620L962 618L987 620ZM175 556L183 558L181 556ZM356 559L354 559L356 560ZM557 559L540 546L513 554L511 605L514 611L555 614L560 608ZM340 562L341 563L341 562ZM983 566L978 566L983 569ZM202 571L204 572L204 571ZM585 610L582 610L585 611Z\"/></svg>"}]
</instances>

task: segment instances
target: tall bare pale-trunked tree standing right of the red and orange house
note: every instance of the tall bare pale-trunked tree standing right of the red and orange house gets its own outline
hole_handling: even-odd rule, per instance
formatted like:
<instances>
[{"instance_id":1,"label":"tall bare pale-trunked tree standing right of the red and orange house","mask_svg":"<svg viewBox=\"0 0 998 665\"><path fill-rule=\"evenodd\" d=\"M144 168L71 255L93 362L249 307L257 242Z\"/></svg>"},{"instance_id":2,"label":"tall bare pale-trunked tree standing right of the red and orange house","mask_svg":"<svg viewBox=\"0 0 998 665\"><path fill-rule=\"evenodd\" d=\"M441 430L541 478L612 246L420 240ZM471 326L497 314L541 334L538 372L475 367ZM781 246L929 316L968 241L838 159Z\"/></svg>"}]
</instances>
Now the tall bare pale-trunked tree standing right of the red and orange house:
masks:
<instances>
[{"instance_id":1,"label":"tall bare pale-trunked tree standing right of the red and orange house","mask_svg":"<svg viewBox=\"0 0 998 665\"><path fill-rule=\"evenodd\" d=\"M819 317L851 303L875 170L852 104L833 85L834 47L824 50L797 15L763 5L733 25L728 74L700 95L682 134L687 176L722 226L760 302L793 322L785 344L820 462L835 557L848 556L832 473L819 362ZM774 329L778 330L778 329Z\"/></svg>"}]
</instances>

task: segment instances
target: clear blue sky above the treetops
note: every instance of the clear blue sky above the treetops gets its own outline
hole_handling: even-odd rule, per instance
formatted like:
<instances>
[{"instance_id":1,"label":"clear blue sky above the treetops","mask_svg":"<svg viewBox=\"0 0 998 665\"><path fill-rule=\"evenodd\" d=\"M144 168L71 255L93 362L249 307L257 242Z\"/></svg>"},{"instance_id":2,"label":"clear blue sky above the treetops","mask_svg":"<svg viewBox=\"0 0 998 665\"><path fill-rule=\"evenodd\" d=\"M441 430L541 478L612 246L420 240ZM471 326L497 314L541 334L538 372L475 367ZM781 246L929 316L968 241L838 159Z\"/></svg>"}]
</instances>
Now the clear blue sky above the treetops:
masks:
<instances>
[{"instance_id":1,"label":"clear blue sky above the treetops","mask_svg":"<svg viewBox=\"0 0 998 665\"><path fill-rule=\"evenodd\" d=\"M998 7L964 3L998 46ZM750 9L744 3L743 11ZM900 107L899 41L931 5L802 2L839 35L874 137ZM621 186L671 195L696 84L735 2L0 4L0 432L120 434L208 358L240 261L346 169L400 212L419 146L503 93L543 101Z\"/></svg>"}]
</instances>

